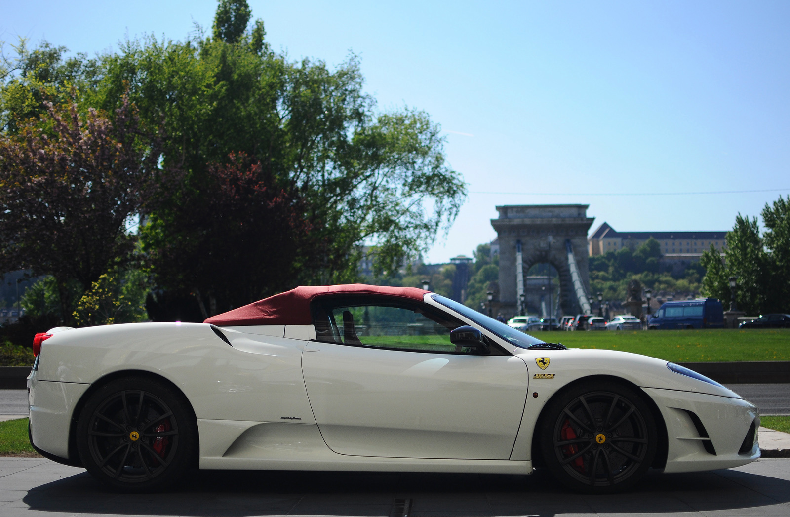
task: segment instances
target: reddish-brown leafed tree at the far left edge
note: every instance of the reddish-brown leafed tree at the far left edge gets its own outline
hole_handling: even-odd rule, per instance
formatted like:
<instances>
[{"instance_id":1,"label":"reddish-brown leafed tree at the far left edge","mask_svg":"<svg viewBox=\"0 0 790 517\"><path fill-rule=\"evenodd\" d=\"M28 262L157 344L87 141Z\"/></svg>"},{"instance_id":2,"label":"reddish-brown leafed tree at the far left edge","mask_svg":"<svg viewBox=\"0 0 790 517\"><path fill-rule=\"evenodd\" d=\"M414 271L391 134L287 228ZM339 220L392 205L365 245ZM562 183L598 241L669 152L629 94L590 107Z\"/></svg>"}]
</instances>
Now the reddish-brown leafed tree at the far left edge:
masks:
<instances>
[{"instance_id":1,"label":"reddish-brown leafed tree at the far left edge","mask_svg":"<svg viewBox=\"0 0 790 517\"><path fill-rule=\"evenodd\" d=\"M0 134L0 269L52 275L68 320L70 282L85 292L130 254L126 221L157 179L159 144L140 144L128 100L112 120L76 104L47 110Z\"/></svg>"}]
</instances>

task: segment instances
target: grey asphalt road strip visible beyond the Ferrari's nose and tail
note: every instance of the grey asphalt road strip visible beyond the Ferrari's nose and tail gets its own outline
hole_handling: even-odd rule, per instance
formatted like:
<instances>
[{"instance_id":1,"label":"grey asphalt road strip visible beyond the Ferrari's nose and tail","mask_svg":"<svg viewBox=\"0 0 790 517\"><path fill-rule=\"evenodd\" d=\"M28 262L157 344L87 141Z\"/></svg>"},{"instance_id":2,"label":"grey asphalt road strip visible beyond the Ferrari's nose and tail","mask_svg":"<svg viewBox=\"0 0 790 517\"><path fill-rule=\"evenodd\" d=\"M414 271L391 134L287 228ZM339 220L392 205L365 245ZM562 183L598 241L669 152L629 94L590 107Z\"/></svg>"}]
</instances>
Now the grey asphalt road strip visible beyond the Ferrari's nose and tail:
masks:
<instances>
[{"instance_id":1,"label":"grey asphalt road strip visible beyond the Ferrari's nose and tail","mask_svg":"<svg viewBox=\"0 0 790 517\"><path fill-rule=\"evenodd\" d=\"M754 402L764 415L790 415L790 384L728 384L735 393ZM28 413L26 390L0 390L0 415Z\"/></svg>"}]
</instances>

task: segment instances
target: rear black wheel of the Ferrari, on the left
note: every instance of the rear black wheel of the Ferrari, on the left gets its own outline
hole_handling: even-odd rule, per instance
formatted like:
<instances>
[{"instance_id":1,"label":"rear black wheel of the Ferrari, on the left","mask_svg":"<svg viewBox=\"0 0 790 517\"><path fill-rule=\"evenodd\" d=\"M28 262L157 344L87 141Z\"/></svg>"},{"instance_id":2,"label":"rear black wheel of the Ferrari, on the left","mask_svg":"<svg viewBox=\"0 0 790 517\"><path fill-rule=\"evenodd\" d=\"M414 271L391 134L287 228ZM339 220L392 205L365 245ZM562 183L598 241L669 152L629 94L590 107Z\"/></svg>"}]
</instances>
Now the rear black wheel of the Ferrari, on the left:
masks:
<instances>
[{"instance_id":1,"label":"rear black wheel of the Ferrari, on the left","mask_svg":"<svg viewBox=\"0 0 790 517\"><path fill-rule=\"evenodd\" d=\"M96 390L77 421L77 451L111 489L167 489L197 465L197 422L189 402L156 379L115 379Z\"/></svg>"}]
</instances>

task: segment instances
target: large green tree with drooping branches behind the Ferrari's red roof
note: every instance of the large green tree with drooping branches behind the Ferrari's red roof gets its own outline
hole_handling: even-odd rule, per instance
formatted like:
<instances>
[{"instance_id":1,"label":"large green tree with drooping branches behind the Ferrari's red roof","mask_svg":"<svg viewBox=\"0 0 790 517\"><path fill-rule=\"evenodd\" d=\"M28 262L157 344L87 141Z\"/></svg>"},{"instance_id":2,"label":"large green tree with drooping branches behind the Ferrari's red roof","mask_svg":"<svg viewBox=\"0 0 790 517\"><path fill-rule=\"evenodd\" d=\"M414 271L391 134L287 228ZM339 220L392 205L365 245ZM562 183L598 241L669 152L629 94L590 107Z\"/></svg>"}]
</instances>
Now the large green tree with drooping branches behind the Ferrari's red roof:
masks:
<instances>
[{"instance_id":1,"label":"large green tree with drooping branches behind the Ferrari's red roof","mask_svg":"<svg viewBox=\"0 0 790 517\"><path fill-rule=\"evenodd\" d=\"M256 33L263 37L262 25L239 42L254 43ZM149 214L153 224L141 231L151 256L167 243L170 257L194 256L199 249L208 262L224 259L220 266L238 277L267 271L278 279L254 294L246 291L243 300L231 299L219 281L198 290L182 281L210 281L200 260L179 262L185 269L152 262L156 285L200 296L206 314L299 284L353 281L365 242L377 245L376 272L392 276L404 259L427 251L449 228L465 198L461 176L446 165L439 126L411 108L377 111L362 90L354 56L329 70L321 61L288 62L284 55L217 38L147 39L127 42L102 66L104 79L91 102L112 109L128 89L141 117L149 123L164 119L164 168L184 172L180 187L160 199ZM231 213L205 213L199 224L182 217L187 205L212 203L213 171L227 166L232 153L260 164L273 188L300 203L310 245L288 248L295 253L288 257L295 265L290 273L280 269L275 246L254 264L233 259L228 250L238 243L216 236L212 228L219 226L209 221L239 223ZM242 217L243 210L233 213ZM271 232L305 241L292 225L271 224Z\"/></svg>"}]
</instances>

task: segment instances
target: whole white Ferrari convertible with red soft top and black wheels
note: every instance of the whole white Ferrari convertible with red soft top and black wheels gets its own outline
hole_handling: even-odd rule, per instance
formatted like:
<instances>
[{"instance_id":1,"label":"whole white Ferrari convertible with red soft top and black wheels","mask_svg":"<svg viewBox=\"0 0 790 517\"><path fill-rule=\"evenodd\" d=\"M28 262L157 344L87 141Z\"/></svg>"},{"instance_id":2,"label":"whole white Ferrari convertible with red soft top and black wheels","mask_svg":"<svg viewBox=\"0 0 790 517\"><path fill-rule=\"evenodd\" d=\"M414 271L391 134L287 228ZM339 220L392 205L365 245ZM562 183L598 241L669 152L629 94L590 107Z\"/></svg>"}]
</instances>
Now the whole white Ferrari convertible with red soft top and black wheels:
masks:
<instances>
[{"instance_id":1,"label":"whole white Ferrari convertible with red soft top and black wheels","mask_svg":"<svg viewBox=\"0 0 790 517\"><path fill-rule=\"evenodd\" d=\"M30 440L115 489L188 470L532 474L614 492L758 459L758 408L677 364L545 343L433 292L299 287L205 323L38 334Z\"/></svg>"}]
</instances>

